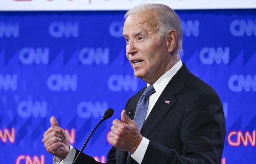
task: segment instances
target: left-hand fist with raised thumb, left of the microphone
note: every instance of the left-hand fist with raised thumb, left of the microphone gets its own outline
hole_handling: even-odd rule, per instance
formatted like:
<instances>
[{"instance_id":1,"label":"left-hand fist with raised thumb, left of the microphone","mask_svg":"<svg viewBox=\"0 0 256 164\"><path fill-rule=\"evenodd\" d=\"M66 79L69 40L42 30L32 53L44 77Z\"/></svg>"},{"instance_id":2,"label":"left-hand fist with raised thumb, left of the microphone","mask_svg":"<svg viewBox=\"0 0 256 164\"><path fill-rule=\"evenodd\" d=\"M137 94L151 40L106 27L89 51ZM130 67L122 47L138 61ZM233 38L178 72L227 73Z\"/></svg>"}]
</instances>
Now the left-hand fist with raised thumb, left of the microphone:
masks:
<instances>
[{"instance_id":1,"label":"left-hand fist with raised thumb, left of the microphone","mask_svg":"<svg viewBox=\"0 0 256 164\"><path fill-rule=\"evenodd\" d=\"M44 147L49 153L63 160L69 153L69 140L65 130L59 127L56 118L51 117L50 121L51 127L44 133Z\"/></svg>"}]
</instances>

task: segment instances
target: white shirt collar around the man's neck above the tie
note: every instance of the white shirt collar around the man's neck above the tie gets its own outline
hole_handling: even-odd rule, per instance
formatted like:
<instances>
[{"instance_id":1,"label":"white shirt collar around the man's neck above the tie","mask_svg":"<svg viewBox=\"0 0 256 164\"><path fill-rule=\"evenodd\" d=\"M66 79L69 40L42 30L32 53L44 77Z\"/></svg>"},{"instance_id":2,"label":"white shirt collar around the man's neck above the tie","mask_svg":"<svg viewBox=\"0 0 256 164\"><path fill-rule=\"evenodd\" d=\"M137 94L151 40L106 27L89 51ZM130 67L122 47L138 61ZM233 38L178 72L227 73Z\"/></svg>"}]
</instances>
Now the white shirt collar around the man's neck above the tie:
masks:
<instances>
[{"instance_id":1,"label":"white shirt collar around the man's neck above the tie","mask_svg":"<svg viewBox=\"0 0 256 164\"><path fill-rule=\"evenodd\" d=\"M158 96L161 95L164 88L168 84L168 82L172 79L172 77L180 70L182 66L181 60L179 60L171 69L169 69L165 74L163 74L153 85L156 90ZM150 84L147 84L147 87Z\"/></svg>"}]
</instances>

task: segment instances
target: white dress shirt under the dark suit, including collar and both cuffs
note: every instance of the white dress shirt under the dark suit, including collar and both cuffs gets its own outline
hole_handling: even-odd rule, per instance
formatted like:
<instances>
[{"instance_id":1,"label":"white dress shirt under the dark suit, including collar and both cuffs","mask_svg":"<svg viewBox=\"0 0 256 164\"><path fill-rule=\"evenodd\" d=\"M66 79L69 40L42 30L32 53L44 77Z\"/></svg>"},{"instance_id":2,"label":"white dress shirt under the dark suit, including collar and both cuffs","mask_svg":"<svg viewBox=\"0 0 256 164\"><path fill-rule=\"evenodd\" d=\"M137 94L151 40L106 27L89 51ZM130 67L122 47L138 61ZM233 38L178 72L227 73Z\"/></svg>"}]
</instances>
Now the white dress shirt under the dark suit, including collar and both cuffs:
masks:
<instances>
[{"instance_id":1,"label":"white dress shirt under the dark suit, including collar and both cuffs","mask_svg":"<svg viewBox=\"0 0 256 164\"><path fill-rule=\"evenodd\" d=\"M171 69L169 69L165 74L163 74L153 84L156 92L153 93L149 97L148 110L147 110L145 120L147 119L149 113L153 109L153 106L157 102L157 100L160 97L161 93L163 92L164 88L166 87L168 82L172 79L172 77L180 70L181 66L182 66L182 62L181 62L181 60L179 60ZM150 84L147 84L147 87L149 85ZM134 160L136 160L139 164L141 164L141 162L144 158L144 155L145 155L146 150L148 148L148 144L149 144L149 139L143 137L140 144L139 144L139 147L136 149L136 151L133 154L131 154L131 157ZM70 164L70 163L73 162L74 158L75 158L75 148L70 145L69 154L67 155L67 157L61 161L58 157L54 156L53 157L53 163L54 164Z\"/></svg>"}]
</instances>

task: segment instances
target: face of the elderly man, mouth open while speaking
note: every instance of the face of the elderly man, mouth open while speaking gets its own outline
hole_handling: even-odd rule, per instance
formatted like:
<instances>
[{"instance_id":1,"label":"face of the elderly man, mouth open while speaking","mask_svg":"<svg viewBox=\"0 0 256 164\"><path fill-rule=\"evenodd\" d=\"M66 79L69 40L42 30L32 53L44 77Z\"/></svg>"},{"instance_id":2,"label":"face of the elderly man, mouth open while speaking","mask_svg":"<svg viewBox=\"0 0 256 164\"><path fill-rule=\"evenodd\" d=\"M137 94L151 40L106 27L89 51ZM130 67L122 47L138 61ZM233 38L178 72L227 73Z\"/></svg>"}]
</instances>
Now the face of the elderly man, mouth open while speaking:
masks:
<instances>
[{"instance_id":1,"label":"face of the elderly man, mouth open while speaking","mask_svg":"<svg viewBox=\"0 0 256 164\"><path fill-rule=\"evenodd\" d=\"M126 40L126 56L130 61L134 75L153 84L169 70L170 54L168 41L158 36L158 13L145 11L131 14L123 27ZM167 69L167 70L166 70Z\"/></svg>"}]
</instances>

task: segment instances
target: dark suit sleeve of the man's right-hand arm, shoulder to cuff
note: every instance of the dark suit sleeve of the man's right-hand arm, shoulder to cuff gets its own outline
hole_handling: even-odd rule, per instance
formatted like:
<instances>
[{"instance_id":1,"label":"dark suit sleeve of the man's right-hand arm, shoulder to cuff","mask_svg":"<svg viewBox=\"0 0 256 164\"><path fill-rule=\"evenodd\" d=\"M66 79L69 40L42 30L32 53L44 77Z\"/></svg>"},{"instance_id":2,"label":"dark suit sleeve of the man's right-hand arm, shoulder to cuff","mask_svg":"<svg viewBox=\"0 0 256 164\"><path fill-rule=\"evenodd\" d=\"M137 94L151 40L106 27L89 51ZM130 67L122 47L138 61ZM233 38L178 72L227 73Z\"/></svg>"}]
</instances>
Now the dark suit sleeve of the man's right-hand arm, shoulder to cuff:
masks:
<instances>
[{"instance_id":1,"label":"dark suit sleeve of the man's right-hand arm, shoulder to cuff","mask_svg":"<svg viewBox=\"0 0 256 164\"><path fill-rule=\"evenodd\" d=\"M181 140L183 155L150 141L141 164L217 164L221 163L225 138L225 119L216 93L202 94L186 109Z\"/></svg>"}]
</instances>

